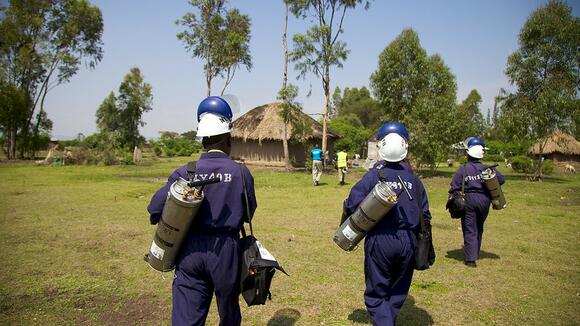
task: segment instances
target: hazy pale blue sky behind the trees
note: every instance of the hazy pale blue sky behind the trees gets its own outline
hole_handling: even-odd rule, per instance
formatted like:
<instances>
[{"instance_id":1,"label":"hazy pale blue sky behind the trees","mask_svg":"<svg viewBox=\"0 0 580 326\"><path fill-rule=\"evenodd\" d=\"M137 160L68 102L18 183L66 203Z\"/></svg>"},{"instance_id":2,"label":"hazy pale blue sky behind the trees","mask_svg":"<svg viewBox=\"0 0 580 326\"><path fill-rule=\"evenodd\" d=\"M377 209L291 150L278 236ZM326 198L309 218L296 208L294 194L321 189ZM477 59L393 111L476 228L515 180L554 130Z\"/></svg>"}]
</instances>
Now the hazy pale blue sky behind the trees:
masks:
<instances>
[{"instance_id":1,"label":"hazy pale blue sky behind the trees","mask_svg":"<svg viewBox=\"0 0 580 326\"><path fill-rule=\"evenodd\" d=\"M153 87L153 110L145 113L141 133L158 137L158 131L196 129L195 109L205 97L203 63L193 59L176 34L175 20L193 11L186 0L91 0L104 18L104 58L94 70L82 68L68 84L52 90L45 108L59 138L96 131L95 112L131 67L139 67ZM545 4L539 0L486 1L383 1L369 10L348 11L341 39L350 50L342 69L331 70L331 89L369 85L378 56L405 28L418 34L429 55L439 53L457 78L458 102L472 89L483 97L484 117L500 87L508 87L504 74L507 57L517 49L518 33L530 13ZM578 2L569 2L575 16ZM240 70L226 93L238 96L242 112L273 102L282 83L282 0L233 0L252 21L251 72ZM290 17L289 37L304 33L311 23ZM290 39L291 40L291 39ZM289 41L292 47L292 42ZM309 75L297 81L293 65L290 81L300 88L299 101L306 113L322 111L320 79ZM214 81L218 94L223 83ZM312 87L312 94L306 97Z\"/></svg>"}]
</instances>

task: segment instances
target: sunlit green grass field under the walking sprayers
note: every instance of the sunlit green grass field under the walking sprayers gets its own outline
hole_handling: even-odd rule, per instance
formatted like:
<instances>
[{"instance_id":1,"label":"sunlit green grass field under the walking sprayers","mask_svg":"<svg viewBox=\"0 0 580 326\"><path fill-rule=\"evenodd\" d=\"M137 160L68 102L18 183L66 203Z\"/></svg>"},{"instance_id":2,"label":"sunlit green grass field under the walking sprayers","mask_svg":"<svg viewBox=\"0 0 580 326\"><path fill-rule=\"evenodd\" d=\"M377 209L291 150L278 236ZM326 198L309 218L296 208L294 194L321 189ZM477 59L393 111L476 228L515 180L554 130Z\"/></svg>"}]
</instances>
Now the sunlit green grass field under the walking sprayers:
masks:
<instances>
[{"instance_id":1,"label":"sunlit green grass field under the walking sprayers","mask_svg":"<svg viewBox=\"0 0 580 326\"><path fill-rule=\"evenodd\" d=\"M144 262L155 228L146 206L187 158L151 166L0 164L0 324L167 325L172 274ZM331 240L362 171L311 186L308 173L250 167L255 233L290 274L244 325L364 325L361 248ZM451 170L424 178L437 260L416 272L400 325L580 323L580 176L542 183L507 175L509 207L492 211L477 269L462 264L459 223L444 210ZM215 303L208 325L217 324Z\"/></svg>"}]
</instances>

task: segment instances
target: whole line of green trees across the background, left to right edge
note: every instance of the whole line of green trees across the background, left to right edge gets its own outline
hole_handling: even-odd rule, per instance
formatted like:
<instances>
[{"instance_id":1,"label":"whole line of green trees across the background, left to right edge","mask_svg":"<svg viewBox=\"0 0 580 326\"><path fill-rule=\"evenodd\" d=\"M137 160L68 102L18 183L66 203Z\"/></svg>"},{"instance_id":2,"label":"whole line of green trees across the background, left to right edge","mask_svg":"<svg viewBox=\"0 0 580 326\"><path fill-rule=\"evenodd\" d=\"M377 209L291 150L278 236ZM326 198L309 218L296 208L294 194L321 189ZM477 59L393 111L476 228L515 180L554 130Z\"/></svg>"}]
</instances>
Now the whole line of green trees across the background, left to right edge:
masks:
<instances>
[{"instance_id":1,"label":"whole line of green trees across the background, left to right edge","mask_svg":"<svg viewBox=\"0 0 580 326\"><path fill-rule=\"evenodd\" d=\"M298 88L288 83L289 62L299 78L313 75L322 81L323 150L327 124L342 136L337 147L361 153L388 120L409 128L412 159L431 167L447 157L451 144L467 136L516 147L545 140L556 130L578 137L580 20L563 1L549 1L525 22L519 47L507 58L505 69L513 91L498 90L485 118L478 91L458 99L456 77L444 58L427 53L412 29L402 31L381 52L368 89L336 87L331 96L331 85L337 84L331 71L342 68L349 53L340 39L346 13L360 6L367 10L370 1L282 2L284 70L278 99L283 103L287 160L288 140L300 130L296 117L301 110ZM228 8L226 0L189 3L193 12L176 21L183 28L177 38L194 58L203 60L207 94L212 94L216 78L223 81L223 94L238 69L252 68L251 21ZM10 159L34 156L46 146L52 129L44 111L49 91L68 82L81 64L94 67L102 59L103 19L86 0L10 1L0 10L0 142ZM305 33L293 35L292 48L289 15L312 24ZM141 116L152 109L152 96L140 70L131 69L117 94L111 92L96 110L95 138L108 143L103 146L117 144L125 151L143 144ZM542 164L536 166L541 173Z\"/></svg>"}]
</instances>

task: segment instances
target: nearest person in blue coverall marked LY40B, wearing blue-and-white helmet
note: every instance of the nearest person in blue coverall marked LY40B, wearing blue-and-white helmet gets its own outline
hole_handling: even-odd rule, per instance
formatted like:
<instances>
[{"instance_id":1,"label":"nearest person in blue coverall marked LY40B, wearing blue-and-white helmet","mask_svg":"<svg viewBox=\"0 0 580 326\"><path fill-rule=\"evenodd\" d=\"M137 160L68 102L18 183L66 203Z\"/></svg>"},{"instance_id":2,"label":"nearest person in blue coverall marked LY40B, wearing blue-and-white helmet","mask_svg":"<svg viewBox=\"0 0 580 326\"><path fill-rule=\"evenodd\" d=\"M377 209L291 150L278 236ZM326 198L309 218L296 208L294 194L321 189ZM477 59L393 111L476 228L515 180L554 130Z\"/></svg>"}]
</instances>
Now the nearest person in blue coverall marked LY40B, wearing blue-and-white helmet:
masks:
<instances>
[{"instance_id":1,"label":"nearest person in blue coverall marked LY40B, wearing blue-and-white helmet","mask_svg":"<svg viewBox=\"0 0 580 326\"><path fill-rule=\"evenodd\" d=\"M242 180L253 215L257 206L254 179L246 166L240 168L229 158L232 111L228 102L210 96L199 104L197 115L197 136L202 137L207 152L196 163L195 180L218 177L221 182L204 188L205 198L177 259L172 321L173 325L205 325L215 293L220 325L240 325L239 234L244 221L251 218L246 216ZM151 224L159 222L169 187L180 177L187 179L186 166L175 170L153 195L147 207Z\"/></svg>"}]
</instances>

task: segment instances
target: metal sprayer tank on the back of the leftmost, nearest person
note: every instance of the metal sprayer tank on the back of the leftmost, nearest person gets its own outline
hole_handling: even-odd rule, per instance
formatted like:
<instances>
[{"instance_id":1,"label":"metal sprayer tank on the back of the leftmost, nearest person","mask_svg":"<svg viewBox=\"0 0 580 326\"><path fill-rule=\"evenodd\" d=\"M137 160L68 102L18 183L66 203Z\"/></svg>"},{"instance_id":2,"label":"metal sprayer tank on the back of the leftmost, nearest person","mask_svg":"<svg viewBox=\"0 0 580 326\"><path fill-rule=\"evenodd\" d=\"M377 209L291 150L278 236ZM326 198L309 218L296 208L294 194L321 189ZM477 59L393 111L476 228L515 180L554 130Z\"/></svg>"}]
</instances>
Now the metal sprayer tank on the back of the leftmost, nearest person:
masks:
<instances>
[{"instance_id":1,"label":"metal sprayer tank on the back of the leftmost, nearest person","mask_svg":"<svg viewBox=\"0 0 580 326\"><path fill-rule=\"evenodd\" d=\"M220 179L193 182L180 179L171 185L151 248L144 257L152 268L160 272L175 268L181 243L203 201L203 187L216 182L220 182Z\"/></svg>"}]
</instances>

